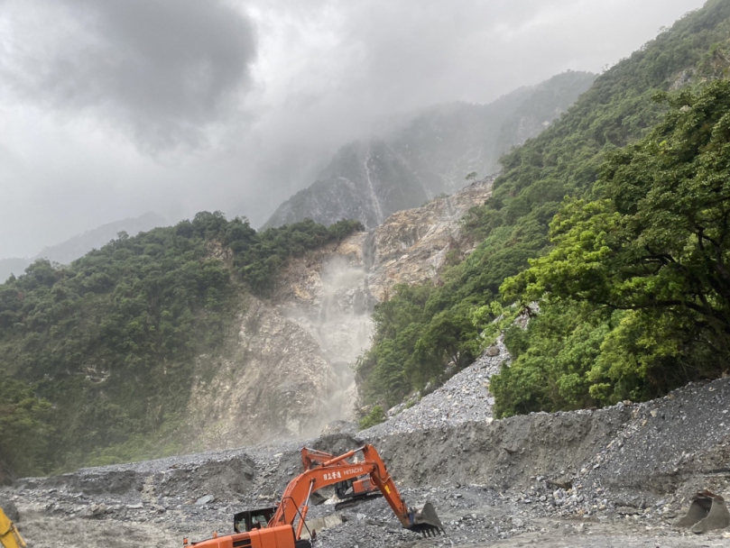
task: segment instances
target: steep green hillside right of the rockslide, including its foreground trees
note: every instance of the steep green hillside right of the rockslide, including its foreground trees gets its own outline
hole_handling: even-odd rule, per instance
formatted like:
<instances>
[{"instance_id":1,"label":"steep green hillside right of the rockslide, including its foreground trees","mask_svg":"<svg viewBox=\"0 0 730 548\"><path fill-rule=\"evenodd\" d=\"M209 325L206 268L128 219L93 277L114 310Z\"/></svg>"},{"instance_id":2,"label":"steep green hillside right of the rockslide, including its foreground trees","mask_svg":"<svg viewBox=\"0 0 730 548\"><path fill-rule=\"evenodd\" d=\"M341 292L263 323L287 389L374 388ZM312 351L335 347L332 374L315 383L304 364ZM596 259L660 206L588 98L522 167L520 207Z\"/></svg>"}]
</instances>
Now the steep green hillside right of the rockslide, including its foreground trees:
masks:
<instances>
[{"instance_id":1,"label":"steep green hillside right of the rockslide, including its foreground trees","mask_svg":"<svg viewBox=\"0 0 730 548\"><path fill-rule=\"evenodd\" d=\"M504 415L643 399L719 374L723 365L712 365L710 356L720 352L725 360L730 342L727 282L717 274L725 271L727 253L724 87L670 105L652 97L723 81L729 52L730 2L710 0L597 78L558 122L504 156L493 196L467 219L467 230L482 241L476 251L442 275L443 285L401 287L376 308L374 347L358 365L366 396L397 403L439 379L448 362L473 361L500 327L516 358L492 383ZM662 120L648 141L622 149ZM664 163L647 160L663 154ZM564 196L606 201L568 199L552 221ZM675 201L684 209L672 209ZM599 214L604 224L591 225ZM583 242L581 227L588 225L594 232ZM674 249L674 239L688 248ZM552 245L559 254L535 263L503 297L504 279ZM578 292L571 276L596 284L596 291ZM522 291L525 301L543 299L527 331L509 327L519 307L503 308ZM501 324L492 324L495 318Z\"/></svg>"}]
</instances>

